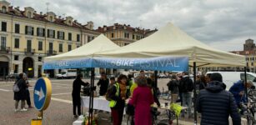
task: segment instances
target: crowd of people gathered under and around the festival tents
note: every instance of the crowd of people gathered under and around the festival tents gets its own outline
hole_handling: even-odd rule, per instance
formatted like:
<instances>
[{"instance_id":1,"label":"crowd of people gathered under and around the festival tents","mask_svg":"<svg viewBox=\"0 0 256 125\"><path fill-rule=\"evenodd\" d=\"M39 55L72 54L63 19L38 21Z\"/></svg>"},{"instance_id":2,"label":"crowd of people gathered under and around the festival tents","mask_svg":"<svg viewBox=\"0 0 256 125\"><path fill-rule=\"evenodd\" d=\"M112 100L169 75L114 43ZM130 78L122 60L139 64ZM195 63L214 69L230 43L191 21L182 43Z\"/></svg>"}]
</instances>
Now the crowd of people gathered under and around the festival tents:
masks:
<instances>
[{"instance_id":1,"label":"crowd of people gathered under and around the festival tents","mask_svg":"<svg viewBox=\"0 0 256 125\"><path fill-rule=\"evenodd\" d=\"M150 77L145 77L143 71L138 77L125 76L121 74L117 81L115 77L108 77L102 73L97 85L99 86L99 94L105 96L109 101L111 108L111 116L113 125L121 125L123 120L123 110L127 102L127 113L133 115L133 124L152 124L152 108L155 102L160 107L158 100L159 90L155 83L154 74ZM81 78L81 77L80 77ZM81 79L80 79L81 80ZM87 85L86 82L75 81L75 84ZM196 78L195 87L193 80L189 77L188 72L180 74L172 74L170 81L167 83L168 91L170 92L170 102L181 102L183 107L188 107L188 118L193 117L192 103L201 113L201 124L228 124L228 117L233 120L233 124L241 124L241 114L238 112L240 102L246 102L244 91L245 87L252 87L253 82L243 82L242 80L233 84L229 91L226 90L226 85L223 83L223 77L220 73L212 73L200 75ZM78 87L78 89L80 89ZM193 102L193 91L196 91L196 102ZM74 98L74 97L73 97ZM76 99L73 99L73 104ZM80 102L80 100L78 101ZM74 115L75 106L73 108ZM78 115L81 112L78 111ZM182 112L182 117L185 117L185 112Z\"/></svg>"}]
</instances>

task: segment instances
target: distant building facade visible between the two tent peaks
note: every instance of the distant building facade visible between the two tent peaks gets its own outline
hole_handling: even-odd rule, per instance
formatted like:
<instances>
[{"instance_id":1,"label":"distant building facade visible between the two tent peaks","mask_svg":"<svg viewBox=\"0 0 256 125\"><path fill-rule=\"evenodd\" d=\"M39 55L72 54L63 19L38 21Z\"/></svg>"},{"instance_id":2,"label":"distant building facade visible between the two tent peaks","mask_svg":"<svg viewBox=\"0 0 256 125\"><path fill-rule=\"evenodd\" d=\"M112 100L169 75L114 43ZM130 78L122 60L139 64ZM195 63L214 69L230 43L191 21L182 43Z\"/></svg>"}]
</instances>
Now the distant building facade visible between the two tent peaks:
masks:
<instances>
[{"instance_id":1,"label":"distant building facade visible between the two tent peaks","mask_svg":"<svg viewBox=\"0 0 256 125\"><path fill-rule=\"evenodd\" d=\"M156 32L157 29L132 28L130 25L114 23L113 26L98 27L97 31L104 33L106 37L118 46L123 47L143 37L148 37L153 32Z\"/></svg>"}]
</instances>

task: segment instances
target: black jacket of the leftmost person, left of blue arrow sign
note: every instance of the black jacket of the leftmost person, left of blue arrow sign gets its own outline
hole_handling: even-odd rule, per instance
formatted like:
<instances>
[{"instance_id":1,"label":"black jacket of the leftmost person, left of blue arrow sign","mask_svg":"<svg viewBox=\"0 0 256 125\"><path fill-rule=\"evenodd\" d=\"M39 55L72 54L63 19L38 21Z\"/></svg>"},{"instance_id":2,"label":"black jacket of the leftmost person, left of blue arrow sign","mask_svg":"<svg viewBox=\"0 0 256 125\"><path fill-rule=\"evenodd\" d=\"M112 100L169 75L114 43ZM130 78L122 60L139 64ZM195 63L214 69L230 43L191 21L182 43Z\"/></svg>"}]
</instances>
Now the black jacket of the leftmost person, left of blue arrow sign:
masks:
<instances>
[{"instance_id":1,"label":"black jacket of the leftmost person, left of blue arrow sign","mask_svg":"<svg viewBox=\"0 0 256 125\"><path fill-rule=\"evenodd\" d=\"M14 100L26 100L27 99L27 84L24 79L19 79L17 82L19 92L14 92Z\"/></svg>"}]
</instances>

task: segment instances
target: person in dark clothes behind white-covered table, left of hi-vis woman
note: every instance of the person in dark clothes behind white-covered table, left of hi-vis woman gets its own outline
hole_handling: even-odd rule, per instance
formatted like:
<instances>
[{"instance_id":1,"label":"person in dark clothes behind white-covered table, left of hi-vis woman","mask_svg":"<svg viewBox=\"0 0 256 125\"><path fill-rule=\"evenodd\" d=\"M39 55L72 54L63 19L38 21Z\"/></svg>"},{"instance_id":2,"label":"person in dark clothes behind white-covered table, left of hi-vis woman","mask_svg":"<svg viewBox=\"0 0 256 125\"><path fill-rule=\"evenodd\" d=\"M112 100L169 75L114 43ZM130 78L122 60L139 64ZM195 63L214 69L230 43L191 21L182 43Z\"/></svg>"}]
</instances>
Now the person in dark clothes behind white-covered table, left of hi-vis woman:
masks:
<instances>
[{"instance_id":1,"label":"person in dark clothes behind white-covered table, left of hi-vis woman","mask_svg":"<svg viewBox=\"0 0 256 125\"><path fill-rule=\"evenodd\" d=\"M101 74L101 78L99 79L97 85L100 86L99 87L99 95L100 96L104 96L106 94L106 92L108 91L108 84L109 84L109 80L107 78L106 73L102 73Z\"/></svg>"}]
</instances>

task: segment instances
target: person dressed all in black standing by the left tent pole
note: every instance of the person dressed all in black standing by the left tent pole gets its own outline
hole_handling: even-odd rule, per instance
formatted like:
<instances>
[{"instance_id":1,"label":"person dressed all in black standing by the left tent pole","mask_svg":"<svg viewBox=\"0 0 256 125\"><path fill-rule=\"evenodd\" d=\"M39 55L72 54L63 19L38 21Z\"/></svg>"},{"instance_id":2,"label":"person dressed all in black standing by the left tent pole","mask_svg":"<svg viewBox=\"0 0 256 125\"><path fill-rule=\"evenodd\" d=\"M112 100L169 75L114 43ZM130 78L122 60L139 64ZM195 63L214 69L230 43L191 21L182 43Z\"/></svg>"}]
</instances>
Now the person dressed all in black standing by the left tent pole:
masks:
<instances>
[{"instance_id":1,"label":"person dressed all in black standing by the left tent pole","mask_svg":"<svg viewBox=\"0 0 256 125\"><path fill-rule=\"evenodd\" d=\"M80 98L80 92L81 92L81 86L87 86L88 82L82 81L82 75L78 74L77 78L73 81L73 91L72 91L72 97L73 97L73 115L74 117L78 117L81 115L81 98ZM76 112L76 108L78 107L78 115Z\"/></svg>"}]
</instances>

